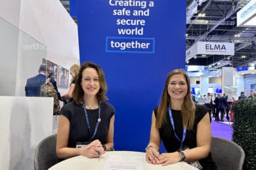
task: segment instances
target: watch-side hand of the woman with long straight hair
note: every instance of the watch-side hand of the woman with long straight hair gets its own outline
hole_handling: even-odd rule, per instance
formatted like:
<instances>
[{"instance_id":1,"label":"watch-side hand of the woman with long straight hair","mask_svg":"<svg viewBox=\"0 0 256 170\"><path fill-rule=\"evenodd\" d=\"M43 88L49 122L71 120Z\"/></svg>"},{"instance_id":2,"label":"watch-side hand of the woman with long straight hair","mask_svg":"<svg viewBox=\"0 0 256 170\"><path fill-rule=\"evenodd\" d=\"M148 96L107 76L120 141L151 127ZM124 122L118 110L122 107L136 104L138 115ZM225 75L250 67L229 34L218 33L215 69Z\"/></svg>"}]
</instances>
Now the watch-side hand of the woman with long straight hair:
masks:
<instances>
[{"instance_id":1,"label":"watch-side hand of the woman with long straight hair","mask_svg":"<svg viewBox=\"0 0 256 170\"><path fill-rule=\"evenodd\" d=\"M179 161L181 161L181 156L179 155L179 152L171 152L161 154L158 163L162 163L163 166L166 166L172 163L177 163Z\"/></svg>"}]
</instances>

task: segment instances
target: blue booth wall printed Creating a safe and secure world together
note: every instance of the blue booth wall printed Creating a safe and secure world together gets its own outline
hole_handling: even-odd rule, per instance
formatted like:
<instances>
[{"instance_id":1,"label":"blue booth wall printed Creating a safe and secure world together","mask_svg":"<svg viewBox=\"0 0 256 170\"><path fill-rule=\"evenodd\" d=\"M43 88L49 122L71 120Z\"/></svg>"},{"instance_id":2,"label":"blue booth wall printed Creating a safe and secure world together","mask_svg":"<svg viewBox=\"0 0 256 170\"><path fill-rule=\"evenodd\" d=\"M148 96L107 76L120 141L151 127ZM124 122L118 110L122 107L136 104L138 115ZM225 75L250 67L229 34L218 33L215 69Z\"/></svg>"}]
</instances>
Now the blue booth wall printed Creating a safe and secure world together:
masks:
<instances>
[{"instance_id":1,"label":"blue booth wall printed Creating a safe and secure world together","mask_svg":"<svg viewBox=\"0 0 256 170\"><path fill-rule=\"evenodd\" d=\"M186 1L118 2L77 1L80 61L97 63L106 75L107 96L116 109L115 150L144 152L165 78L184 69ZM124 25L130 20L140 22Z\"/></svg>"}]
</instances>

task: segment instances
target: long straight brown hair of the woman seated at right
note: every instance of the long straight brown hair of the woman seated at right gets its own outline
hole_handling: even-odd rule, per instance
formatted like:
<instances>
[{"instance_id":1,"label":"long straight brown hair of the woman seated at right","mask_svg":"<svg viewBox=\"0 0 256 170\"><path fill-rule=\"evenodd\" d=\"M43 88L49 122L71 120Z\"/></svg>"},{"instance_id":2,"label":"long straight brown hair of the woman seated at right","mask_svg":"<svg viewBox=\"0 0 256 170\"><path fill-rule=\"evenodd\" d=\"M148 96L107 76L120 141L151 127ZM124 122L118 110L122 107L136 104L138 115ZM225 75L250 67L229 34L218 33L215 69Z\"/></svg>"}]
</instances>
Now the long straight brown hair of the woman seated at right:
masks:
<instances>
[{"instance_id":1,"label":"long straight brown hair of the woman seated at right","mask_svg":"<svg viewBox=\"0 0 256 170\"><path fill-rule=\"evenodd\" d=\"M184 69L175 69L171 71L165 80L165 87L163 89L163 93L160 99L160 105L158 107L158 114L156 117L156 127L160 128L163 125L163 122L166 121L165 117L168 111L168 108L171 107L171 97L168 93L168 85L171 76L173 75L183 75L186 79L186 84L188 86L188 90L184 97L182 107L181 107L181 114L182 114L182 122L183 126L187 129L192 129L194 126L194 118L195 118L195 104L192 101L192 97L190 94L190 79L186 74Z\"/></svg>"}]
</instances>

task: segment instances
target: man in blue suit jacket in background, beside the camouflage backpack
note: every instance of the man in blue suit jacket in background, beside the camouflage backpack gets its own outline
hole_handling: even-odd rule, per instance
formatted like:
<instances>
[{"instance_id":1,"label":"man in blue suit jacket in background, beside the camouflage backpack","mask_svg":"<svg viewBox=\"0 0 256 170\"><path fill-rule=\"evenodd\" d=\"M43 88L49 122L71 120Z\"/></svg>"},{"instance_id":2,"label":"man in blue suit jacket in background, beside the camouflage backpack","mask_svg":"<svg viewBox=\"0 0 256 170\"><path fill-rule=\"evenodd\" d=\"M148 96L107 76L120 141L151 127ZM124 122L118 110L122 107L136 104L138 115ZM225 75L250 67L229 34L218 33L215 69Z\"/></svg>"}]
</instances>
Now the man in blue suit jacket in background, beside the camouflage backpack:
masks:
<instances>
[{"instance_id":1,"label":"man in blue suit jacket in background, beside the camouflage backpack","mask_svg":"<svg viewBox=\"0 0 256 170\"><path fill-rule=\"evenodd\" d=\"M51 69L46 64L41 64L38 70L38 75L28 78L25 86L26 96L40 96L40 87L45 83L47 77L51 73Z\"/></svg>"}]
</instances>

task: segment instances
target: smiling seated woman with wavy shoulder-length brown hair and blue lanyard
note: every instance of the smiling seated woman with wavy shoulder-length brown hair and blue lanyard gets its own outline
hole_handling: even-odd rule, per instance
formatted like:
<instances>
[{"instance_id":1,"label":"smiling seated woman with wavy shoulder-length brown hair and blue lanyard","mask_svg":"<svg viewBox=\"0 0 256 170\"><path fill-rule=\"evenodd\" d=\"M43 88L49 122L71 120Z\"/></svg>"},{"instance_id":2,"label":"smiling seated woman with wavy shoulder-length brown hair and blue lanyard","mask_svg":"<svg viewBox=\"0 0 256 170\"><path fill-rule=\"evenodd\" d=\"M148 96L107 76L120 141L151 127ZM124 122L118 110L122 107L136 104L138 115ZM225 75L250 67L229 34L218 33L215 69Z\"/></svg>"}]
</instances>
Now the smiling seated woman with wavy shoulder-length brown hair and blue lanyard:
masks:
<instances>
[{"instance_id":1,"label":"smiling seated woman with wavy shoulder-length brown hair and blue lanyard","mask_svg":"<svg viewBox=\"0 0 256 170\"><path fill-rule=\"evenodd\" d=\"M56 155L98 158L114 146L114 107L106 102L104 72L95 63L81 65L75 84L74 101L60 110Z\"/></svg>"}]
</instances>

